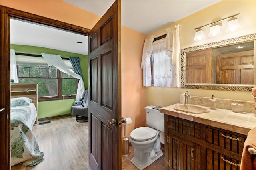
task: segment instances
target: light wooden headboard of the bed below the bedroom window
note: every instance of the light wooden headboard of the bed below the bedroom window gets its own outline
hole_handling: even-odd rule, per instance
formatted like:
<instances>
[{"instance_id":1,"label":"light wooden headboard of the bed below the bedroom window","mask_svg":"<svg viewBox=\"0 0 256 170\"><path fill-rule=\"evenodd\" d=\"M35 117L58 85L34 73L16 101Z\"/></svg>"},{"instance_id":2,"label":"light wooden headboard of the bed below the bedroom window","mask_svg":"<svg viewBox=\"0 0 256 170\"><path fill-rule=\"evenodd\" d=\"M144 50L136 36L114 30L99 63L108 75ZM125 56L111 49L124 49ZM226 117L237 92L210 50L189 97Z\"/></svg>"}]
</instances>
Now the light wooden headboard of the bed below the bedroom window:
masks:
<instances>
[{"instance_id":1,"label":"light wooden headboard of the bed below the bedroom window","mask_svg":"<svg viewBox=\"0 0 256 170\"><path fill-rule=\"evenodd\" d=\"M28 97L36 107L36 122L38 123L38 83L11 83L11 98Z\"/></svg>"}]
</instances>

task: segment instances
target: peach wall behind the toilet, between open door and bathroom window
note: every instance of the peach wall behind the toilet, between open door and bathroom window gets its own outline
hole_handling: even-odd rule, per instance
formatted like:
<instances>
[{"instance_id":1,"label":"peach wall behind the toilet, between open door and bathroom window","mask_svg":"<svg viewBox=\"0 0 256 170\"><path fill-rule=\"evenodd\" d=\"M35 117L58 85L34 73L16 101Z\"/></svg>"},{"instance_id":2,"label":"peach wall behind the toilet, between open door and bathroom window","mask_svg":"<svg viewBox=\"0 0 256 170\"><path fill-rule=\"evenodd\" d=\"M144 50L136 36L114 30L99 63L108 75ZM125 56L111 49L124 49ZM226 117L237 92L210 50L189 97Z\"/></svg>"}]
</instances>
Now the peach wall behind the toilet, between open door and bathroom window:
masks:
<instances>
[{"instance_id":1,"label":"peach wall behind the toilet, between open door and bathroom window","mask_svg":"<svg viewBox=\"0 0 256 170\"><path fill-rule=\"evenodd\" d=\"M126 136L134 128L146 123L146 87L143 87L140 68L145 35L122 26L122 117L130 117L132 124L126 126Z\"/></svg>"}]
</instances>

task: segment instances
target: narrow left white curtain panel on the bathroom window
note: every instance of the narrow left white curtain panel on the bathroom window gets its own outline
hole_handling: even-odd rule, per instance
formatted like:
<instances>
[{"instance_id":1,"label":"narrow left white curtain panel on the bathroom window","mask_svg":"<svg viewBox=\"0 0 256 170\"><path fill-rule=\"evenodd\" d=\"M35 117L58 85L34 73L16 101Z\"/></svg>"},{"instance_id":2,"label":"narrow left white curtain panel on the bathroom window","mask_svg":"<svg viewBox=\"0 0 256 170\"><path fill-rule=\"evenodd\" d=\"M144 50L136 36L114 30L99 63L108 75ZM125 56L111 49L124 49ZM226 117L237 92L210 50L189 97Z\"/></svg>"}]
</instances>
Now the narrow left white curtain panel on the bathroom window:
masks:
<instances>
[{"instance_id":1,"label":"narrow left white curtain panel on the bathroom window","mask_svg":"<svg viewBox=\"0 0 256 170\"><path fill-rule=\"evenodd\" d=\"M141 60L141 68L143 69L143 86L151 86L151 46L154 40L154 36L150 36L150 38L146 38L143 51L142 51L142 60Z\"/></svg>"}]
</instances>

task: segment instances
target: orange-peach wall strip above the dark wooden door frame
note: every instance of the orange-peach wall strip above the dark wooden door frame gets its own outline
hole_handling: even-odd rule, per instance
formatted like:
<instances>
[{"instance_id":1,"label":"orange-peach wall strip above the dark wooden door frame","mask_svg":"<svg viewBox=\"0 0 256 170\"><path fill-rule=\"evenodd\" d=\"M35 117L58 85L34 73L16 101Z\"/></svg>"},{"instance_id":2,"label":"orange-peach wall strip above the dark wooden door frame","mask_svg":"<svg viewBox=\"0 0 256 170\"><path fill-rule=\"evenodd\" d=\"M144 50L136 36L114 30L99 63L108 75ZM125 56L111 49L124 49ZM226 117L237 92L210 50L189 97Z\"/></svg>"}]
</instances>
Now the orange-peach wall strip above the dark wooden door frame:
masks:
<instances>
[{"instance_id":1,"label":"orange-peach wall strip above the dark wooden door frame","mask_svg":"<svg viewBox=\"0 0 256 170\"><path fill-rule=\"evenodd\" d=\"M91 29L100 16L62 0L0 0L0 4Z\"/></svg>"}]
</instances>

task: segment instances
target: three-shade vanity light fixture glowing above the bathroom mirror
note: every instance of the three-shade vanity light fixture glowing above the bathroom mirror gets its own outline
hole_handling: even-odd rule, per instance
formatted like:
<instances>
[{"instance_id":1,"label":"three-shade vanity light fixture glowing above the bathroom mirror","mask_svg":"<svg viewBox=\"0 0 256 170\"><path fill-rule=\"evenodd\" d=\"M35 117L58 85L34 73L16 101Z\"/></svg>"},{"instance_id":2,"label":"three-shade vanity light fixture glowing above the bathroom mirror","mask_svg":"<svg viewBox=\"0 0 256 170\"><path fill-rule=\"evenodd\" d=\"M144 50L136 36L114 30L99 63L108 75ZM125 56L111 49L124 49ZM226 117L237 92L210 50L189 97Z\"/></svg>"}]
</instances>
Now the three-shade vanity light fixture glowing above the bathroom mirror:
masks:
<instances>
[{"instance_id":1,"label":"three-shade vanity light fixture glowing above the bathroom mirror","mask_svg":"<svg viewBox=\"0 0 256 170\"><path fill-rule=\"evenodd\" d=\"M239 14L240 13L234 14L232 16L228 16L226 18L223 18L223 19L220 19L220 20L211 22L209 24L205 24L203 26L195 28L196 33L195 33L194 40L195 41L200 41L204 38L204 30L202 30L201 28L203 28L205 26L208 26L208 25L211 25L210 26L210 31L209 31L209 34L208 34L209 37L215 37L215 36L221 35L221 32L220 32L221 21L226 20L228 18L230 18L230 19L228 20L228 26L227 26L226 32L234 32L234 31L240 29L241 26L239 25L238 19L235 17Z\"/></svg>"}]
</instances>

